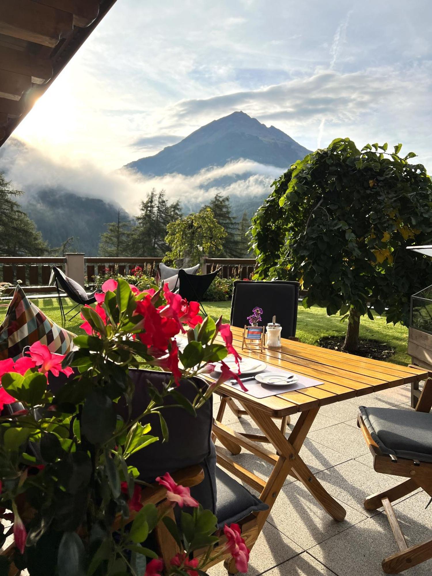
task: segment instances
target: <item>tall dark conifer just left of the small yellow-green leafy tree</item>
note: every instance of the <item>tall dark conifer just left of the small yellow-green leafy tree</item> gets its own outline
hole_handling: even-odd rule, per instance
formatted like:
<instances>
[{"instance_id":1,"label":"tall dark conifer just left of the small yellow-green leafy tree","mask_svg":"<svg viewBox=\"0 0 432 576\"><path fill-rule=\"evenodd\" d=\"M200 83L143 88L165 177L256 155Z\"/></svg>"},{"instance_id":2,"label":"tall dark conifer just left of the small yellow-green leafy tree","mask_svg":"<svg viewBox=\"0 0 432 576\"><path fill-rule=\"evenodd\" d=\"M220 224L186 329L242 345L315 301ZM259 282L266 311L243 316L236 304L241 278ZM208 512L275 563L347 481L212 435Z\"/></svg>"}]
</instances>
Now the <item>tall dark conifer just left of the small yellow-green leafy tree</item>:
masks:
<instances>
[{"instance_id":1,"label":"tall dark conifer just left of the small yellow-green leafy tree","mask_svg":"<svg viewBox=\"0 0 432 576\"><path fill-rule=\"evenodd\" d=\"M166 227L181 217L180 202L169 203L165 190L153 188L141 202L137 226L131 234L133 256L163 256L168 250Z\"/></svg>"}]
</instances>

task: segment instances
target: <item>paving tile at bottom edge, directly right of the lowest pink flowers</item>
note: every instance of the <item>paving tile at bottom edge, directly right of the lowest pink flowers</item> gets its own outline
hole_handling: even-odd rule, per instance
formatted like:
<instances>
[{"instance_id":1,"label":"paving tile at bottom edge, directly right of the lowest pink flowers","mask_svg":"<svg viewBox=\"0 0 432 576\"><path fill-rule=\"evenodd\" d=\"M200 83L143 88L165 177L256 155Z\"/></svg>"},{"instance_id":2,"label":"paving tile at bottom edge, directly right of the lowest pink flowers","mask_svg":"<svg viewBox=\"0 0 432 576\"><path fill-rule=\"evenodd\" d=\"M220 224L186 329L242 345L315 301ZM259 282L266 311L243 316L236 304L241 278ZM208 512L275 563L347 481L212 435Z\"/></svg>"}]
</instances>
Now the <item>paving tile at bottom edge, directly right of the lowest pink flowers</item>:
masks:
<instances>
[{"instance_id":1,"label":"paving tile at bottom edge, directly right of the lowest pink flowers","mask_svg":"<svg viewBox=\"0 0 432 576\"><path fill-rule=\"evenodd\" d=\"M286 560L297 556L302 551L300 546L266 522L251 550L247 576L262 574L278 564L286 563ZM226 576L223 562L211 567L207 570L207 574L209 576Z\"/></svg>"}]
</instances>

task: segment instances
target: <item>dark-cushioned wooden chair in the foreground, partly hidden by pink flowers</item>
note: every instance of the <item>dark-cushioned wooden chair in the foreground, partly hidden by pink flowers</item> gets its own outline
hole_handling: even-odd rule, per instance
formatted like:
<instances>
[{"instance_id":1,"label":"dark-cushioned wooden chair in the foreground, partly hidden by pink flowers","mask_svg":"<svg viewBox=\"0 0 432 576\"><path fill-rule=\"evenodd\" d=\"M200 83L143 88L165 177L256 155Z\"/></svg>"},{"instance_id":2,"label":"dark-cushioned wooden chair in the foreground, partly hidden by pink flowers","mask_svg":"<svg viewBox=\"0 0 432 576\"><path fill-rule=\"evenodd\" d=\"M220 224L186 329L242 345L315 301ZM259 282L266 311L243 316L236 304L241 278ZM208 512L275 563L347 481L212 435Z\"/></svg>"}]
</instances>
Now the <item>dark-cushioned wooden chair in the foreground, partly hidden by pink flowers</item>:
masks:
<instances>
[{"instance_id":1,"label":"dark-cushioned wooden chair in the foreground, partly hidden by pink flowers","mask_svg":"<svg viewBox=\"0 0 432 576\"><path fill-rule=\"evenodd\" d=\"M163 372L151 370L130 370L130 376L135 383L135 393L132 401L131 418L137 418L147 407L150 401L149 385L161 390L169 380L169 375ZM65 383L65 377L60 374L59 380L50 378L50 388L55 393ZM194 400L198 389L206 388L207 384L200 378L180 381L177 391L188 400ZM165 399L166 406L176 404L172 397ZM122 399L118 403L118 412L122 416L127 415L127 407ZM153 483L157 476L169 472L177 483L191 487L191 495L196 498L204 508L213 511L217 516L215 535L219 537L215 544L212 556L223 552L216 562L209 562L204 570L209 569L215 563L225 561L229 573L237 572L233 559L229 552L224 550L226 538L223 534L223 526L235 522L241 528L241 535L245 539L247 547L252 548L260 530L265 523L269 507L260 501L216 465L215 446L211 441L211 427L213 423L213 402L210 399L196 416L190 414L181 407L172 407L163 410L162 414L168 426L169 437L166 442L155 442L146 446L140 452L132 454L128 458L128 465L137 467L139 479ZM151 433L162 438L160 419L156 414L143 418L142 422L149 422ZM166 506L166 490L153 484L152 487L144 488L141 502L143 505L154 503L157 506ZM131 513L131 519L136 513ZM168 515L175 520L172 507L169 506ZM116 525L120 524L120 518ZM154 545L156 551L169 566L169 560L179 552L176 541L170 535L165 525L158 525L154 533ZM1 554L13 557L14 544L10 545ZM196 550L194 558L204 558L203 550ZM19 571L12 564L9 576L16 576Z\"/></svg>"}]
</instances>

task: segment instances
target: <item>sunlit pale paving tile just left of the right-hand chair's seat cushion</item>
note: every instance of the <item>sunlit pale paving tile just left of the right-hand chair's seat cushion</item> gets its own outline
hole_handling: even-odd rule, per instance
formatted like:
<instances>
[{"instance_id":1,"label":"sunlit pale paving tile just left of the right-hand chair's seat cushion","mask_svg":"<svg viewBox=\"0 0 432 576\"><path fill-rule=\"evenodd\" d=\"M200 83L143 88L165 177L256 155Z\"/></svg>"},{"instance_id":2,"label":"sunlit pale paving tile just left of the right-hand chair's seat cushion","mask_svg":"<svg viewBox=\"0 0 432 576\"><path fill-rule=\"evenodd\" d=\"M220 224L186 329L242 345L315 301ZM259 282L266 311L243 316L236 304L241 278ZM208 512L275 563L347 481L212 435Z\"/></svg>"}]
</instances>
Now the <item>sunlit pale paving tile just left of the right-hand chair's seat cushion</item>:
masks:
<instances>
[{"instance_id":1,"label":"sunlit pale paving tile just left of the right-hand chair's seat cushion","mask_svg":"<svg viewBox=\"0 0 432 576\"><path fill-rule=\"evenodd\" d=\"M343 422L329 428L310 432L308 437L313 441L324 444L324 446L328 446L328 448L337 450L340 454L347 456L348 459L369 453L361 430Z\"/></svg>"}]
</instances>

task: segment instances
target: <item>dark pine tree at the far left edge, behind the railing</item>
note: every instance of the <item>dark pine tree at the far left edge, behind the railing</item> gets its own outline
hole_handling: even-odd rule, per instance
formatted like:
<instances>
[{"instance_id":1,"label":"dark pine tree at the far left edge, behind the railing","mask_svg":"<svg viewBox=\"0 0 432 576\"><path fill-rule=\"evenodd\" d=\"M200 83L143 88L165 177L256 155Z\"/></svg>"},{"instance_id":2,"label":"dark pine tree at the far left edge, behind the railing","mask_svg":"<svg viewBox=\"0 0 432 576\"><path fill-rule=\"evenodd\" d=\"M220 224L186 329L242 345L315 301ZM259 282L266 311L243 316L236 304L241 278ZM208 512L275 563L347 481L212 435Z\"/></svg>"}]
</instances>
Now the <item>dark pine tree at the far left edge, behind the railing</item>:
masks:
<instances>
[{"instance_id":1,"label":"dark pine tree at the far left edge, behind the railing","mask_svg":"<svg viewBox=\"0 0 432 576\"><path fill-rule=\"evenodd\" d=\"M48 250L35 222L21 210L15 200L22 194L19 190L13 190L5 175L0 172L1 256L42 256Z\"/></svg>"}]
</instances>

